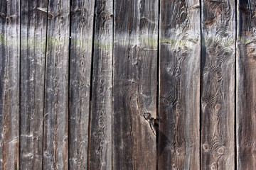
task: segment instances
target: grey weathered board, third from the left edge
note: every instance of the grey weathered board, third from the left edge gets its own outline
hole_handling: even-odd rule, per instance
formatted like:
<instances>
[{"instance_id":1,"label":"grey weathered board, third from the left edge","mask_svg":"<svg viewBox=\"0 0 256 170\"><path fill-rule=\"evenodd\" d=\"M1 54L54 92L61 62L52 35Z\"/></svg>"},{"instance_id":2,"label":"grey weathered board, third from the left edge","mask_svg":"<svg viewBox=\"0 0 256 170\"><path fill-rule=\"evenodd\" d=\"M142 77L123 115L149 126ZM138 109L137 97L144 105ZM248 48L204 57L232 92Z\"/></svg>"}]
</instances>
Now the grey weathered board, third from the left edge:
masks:
<instances>
[{"instance_id":1,"label":"grey weathered board, third from the left edge","mask_svg":"<svg viewBox=\"0 0 256 170\"><path fill-rule=\"evenodd\" d=\"M70 1L49 1L43 169L68 169L69 16Z\"/></svg>"}]
</instances>

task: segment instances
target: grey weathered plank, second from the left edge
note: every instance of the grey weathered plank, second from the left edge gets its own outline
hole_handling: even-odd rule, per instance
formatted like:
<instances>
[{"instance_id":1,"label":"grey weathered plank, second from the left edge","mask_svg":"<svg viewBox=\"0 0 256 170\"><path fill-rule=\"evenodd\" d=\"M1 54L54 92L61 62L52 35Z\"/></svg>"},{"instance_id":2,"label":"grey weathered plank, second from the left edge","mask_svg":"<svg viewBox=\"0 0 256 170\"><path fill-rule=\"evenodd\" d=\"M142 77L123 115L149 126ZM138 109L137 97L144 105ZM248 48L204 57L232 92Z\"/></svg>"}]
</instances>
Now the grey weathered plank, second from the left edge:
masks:
<instances>
[{"instance_id":1,"label":"grey weathered plank, second from the left edge","mask_svg":"<svg viewBox=\"0 0 256 170\"><path fill-rule=\"evenodd\" d=\"M47 6L21 1L21 169L42 169Z\"/></svg>"}]
</instances>

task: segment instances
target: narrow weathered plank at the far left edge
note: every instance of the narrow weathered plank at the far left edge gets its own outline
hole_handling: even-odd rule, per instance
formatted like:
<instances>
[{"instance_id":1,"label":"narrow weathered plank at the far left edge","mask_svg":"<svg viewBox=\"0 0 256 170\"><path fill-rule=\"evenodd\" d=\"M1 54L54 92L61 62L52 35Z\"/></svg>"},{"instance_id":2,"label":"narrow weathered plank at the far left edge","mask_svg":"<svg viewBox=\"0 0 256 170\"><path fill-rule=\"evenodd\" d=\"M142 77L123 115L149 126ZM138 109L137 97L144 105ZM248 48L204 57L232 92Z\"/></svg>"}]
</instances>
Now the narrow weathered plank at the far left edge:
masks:
<instances>
[{"instance_id":1,"label":"narrow weathered plank at the far left edge","mask_svg":"<svg viewBox=\"0 0 256 170\"><path fill-rule=\"evenodd\" d=\"M0 169L19 162L20 1L0 1Z\"/></svg>"}]
</instances>

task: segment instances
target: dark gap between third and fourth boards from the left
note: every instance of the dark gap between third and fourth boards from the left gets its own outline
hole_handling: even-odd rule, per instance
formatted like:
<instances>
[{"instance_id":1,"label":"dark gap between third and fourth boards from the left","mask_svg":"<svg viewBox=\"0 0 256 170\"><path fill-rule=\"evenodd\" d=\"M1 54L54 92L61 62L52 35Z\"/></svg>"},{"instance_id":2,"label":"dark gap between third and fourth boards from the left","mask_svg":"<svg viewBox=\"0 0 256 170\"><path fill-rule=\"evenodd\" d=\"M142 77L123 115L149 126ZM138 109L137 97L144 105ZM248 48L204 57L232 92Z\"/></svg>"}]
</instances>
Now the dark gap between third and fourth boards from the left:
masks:
<instances>
[{"instance_id":1,"label":"dark gap between third and fourth boards from the left","mask_svg":"<svg viewBox=\"0 0 256 170\"><path fill-rule=\"evenodd\" d=\"M70 169L70 152L69 152L69 148L70 148L70 63L71 63L71 11L72 11L72 0L70 0L70 11L69 11L69 48L68 48L68 169Z\"/></svg>"}]
</instances>

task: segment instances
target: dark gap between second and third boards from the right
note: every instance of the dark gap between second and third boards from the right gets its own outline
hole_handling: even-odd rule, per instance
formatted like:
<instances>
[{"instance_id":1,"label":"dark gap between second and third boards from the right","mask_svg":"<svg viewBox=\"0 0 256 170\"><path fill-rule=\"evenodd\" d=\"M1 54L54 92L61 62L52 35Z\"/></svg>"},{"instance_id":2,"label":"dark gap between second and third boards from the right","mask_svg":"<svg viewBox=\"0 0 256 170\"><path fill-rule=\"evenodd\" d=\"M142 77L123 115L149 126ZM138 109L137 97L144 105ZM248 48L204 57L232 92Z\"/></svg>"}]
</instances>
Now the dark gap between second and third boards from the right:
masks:
<instances>
[{"instance_id":1,"label":"dark gap between second and third boards from the right","mask_svg":"<svg viewBox=\"0 0 256 170\"><path fill-rule=\"evenodd\" d=\"M201 102L201 94L203 91L203 66L202 66L202 62L203 62L203 26L202 26L202 11L203 11L203 6L202 6L202 1L199 0L199 4L200 4L200 40L201 40L201 54L200 54L200 95L199 95L199 168L202 169L201 165L202 165L202 111L201 111L201 106L202 106L202 102Z\"/></svg>"}]
</instances>

